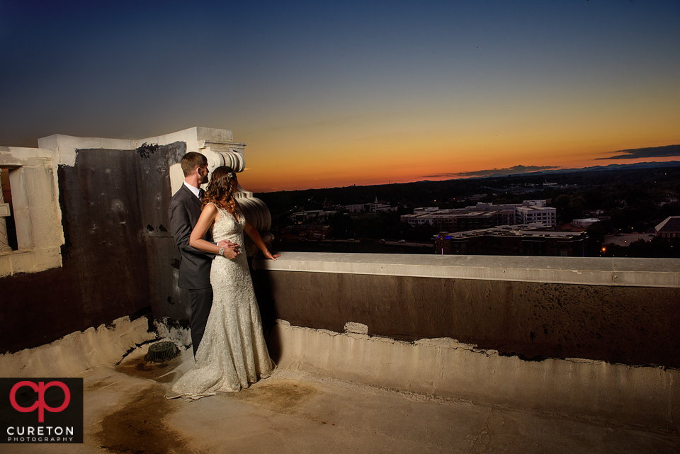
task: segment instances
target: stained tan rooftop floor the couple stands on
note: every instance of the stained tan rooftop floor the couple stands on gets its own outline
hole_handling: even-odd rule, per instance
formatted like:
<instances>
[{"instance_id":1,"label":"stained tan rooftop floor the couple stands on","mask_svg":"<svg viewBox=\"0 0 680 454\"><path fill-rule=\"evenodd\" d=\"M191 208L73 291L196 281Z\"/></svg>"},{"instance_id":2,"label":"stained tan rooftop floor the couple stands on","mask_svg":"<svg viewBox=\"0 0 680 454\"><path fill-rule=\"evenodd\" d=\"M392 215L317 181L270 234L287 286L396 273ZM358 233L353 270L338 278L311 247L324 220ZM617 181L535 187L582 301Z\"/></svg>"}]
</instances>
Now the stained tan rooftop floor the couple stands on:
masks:
<instances>
[{"instance_id":1,"label":"stained tan rooftop floor the couple stands on","mask_svg":"<svg viewBox=\"0 0 680 454\"><path fill-rule=\"evenodd\" d=\"M277 370L236 394L167 399L191 349L84 375L84 444L3 453L679 453L680 434Z\"/></svg>"}]
</instances>

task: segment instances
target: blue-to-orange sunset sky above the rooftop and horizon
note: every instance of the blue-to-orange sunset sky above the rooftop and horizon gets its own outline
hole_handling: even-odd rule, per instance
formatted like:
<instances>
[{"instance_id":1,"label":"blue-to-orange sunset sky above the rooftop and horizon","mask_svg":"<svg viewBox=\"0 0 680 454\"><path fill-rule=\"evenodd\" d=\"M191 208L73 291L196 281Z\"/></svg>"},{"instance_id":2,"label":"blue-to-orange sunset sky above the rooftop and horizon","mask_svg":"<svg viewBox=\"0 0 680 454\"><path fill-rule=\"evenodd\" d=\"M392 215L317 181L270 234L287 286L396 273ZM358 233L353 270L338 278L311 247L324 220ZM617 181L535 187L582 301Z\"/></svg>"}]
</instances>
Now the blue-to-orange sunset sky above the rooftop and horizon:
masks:
<instances>
[{"instance_id":1,"label":"blue-to-orange sunset sky above the rooftop and horizon","mask_svg":"<svg viewBox=\"0 0 680 454\"><path fill-rule=\"evenodd\" d=\"M678 160L621 150L680 144L680 1L0 0L0 145L192 126L257 192Z\"/></svg>"}]
</instances>

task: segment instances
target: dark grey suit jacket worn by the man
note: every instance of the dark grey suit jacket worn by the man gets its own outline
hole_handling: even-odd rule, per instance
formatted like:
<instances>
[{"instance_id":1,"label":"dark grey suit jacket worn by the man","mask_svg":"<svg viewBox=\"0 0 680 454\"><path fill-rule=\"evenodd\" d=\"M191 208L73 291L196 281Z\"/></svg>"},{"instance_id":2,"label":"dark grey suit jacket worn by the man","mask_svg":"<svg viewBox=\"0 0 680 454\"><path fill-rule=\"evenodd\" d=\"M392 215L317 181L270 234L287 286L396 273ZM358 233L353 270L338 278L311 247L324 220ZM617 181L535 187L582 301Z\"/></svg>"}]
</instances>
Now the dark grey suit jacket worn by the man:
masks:
<instances>
[{"instance_id":1,"label":"dark grey suit jacket worn by the man","mask_svg":"<svg viewBox=\"0 0 680 454\"><path fill-rule=\"evenodd\" d=\"M210 288L210 266L215 254L189 245L191 230L200 217L200 201L184 184L170 199L170 230L175 237L182 261L179 265L179 288ZM203 237L212 242L210 231Z\"/></svg>"}]
</instances>

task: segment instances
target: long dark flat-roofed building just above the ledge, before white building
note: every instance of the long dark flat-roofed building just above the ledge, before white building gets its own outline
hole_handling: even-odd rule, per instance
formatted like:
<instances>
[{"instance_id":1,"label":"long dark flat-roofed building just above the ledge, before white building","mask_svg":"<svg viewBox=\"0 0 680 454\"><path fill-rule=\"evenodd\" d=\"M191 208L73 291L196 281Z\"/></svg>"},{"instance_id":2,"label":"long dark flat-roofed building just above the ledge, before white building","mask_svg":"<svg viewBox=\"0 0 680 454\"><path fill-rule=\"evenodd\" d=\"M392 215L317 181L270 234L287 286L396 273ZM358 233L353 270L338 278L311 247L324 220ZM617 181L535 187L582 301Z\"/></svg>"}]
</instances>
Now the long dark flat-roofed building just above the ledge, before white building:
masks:
<instances>
[{"instance_id":1,"label":"long dark flat-roofed building just above the ledge, before white building","mask_svg":"<svg viewBox=\"0 0 680 454\"><path fill-rule=\"evenodd\" d=\"M583 256L583 232L546 232L526 225L501 226L469 232L440 232L436 254L494 256Z\"/></svg>"}]
</instances>

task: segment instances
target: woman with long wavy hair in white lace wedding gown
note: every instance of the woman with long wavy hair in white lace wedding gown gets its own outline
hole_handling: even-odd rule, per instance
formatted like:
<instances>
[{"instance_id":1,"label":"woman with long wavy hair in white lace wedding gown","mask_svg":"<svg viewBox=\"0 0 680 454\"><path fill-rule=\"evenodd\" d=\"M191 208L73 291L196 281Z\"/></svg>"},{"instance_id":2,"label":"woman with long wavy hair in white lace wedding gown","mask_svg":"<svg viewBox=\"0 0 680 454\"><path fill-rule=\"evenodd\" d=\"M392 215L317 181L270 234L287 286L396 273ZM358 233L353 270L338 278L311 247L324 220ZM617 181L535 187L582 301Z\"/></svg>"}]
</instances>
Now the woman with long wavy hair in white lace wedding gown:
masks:
<instances>
[{"instance_id":1,"label":"woman with long wavy hair in white lace wedding gown","mask_svg":"<svg viewBox=\"0 0 680 454\"><path fill-rule=\"evenodd\" d=\"M203 211L189 239L196 249L216 254L210 270L214 297L196 364L172 387L180 395L198 398L238 392L258 378L267 378L273 369L246 255L227 259L224 248L203 239L212 229L215 242L228 239L243 247L245 232L268 259L280 256L268 251L257 229L246 220L234 197L237 188L236 172L229 167L217 167L212 172L203 196Z\"/></svg>"}]
</instances>

